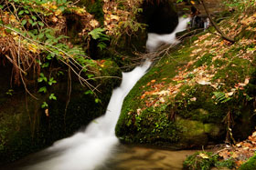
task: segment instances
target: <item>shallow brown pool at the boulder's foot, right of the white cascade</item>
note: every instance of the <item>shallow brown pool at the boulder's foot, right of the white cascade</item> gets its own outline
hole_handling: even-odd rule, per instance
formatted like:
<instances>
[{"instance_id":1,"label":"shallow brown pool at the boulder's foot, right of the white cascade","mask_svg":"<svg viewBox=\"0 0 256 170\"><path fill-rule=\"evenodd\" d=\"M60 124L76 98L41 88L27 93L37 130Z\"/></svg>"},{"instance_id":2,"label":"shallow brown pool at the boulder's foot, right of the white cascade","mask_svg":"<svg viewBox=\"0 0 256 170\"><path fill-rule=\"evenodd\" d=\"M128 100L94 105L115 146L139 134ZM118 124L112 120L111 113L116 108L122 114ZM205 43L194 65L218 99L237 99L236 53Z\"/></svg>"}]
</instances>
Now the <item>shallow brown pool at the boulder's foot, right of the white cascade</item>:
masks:
<instances>
[{"instance_id":1,"label":"shallow brown pool at the boulder's foot, right of the white cascade","mask_svg":"<svg viewBox=\"0 0 256 170\"><path fill-rule=\"evenodd\" d=\"M163 150L120 145L112 157L97 170L180 170L187 155L197 150Z\"/></svg>"}]
</instances>

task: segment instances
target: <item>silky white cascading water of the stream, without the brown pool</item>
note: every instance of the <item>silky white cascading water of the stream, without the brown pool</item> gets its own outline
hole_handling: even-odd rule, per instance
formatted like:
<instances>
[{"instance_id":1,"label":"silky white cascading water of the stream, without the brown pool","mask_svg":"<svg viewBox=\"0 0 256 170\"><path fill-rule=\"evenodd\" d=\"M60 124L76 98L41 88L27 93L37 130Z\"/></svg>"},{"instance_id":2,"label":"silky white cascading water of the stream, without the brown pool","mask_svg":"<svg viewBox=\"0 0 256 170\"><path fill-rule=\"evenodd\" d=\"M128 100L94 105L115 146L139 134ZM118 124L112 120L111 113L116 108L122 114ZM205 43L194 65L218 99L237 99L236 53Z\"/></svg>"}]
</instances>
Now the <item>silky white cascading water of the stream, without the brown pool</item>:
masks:
<instances>
[{"instance_id":1,"label":"silky white cascading water of the stream, without the brown pool","mask_svg":"<svg viewBox=\"0 0 256 170\"><path fill-rule=\"evenodd\" d=\"M168 44L175 44L177 41L176 32L187 27L187 19L180 19L180 21L172 34L160 39L167 39ZM149 35L147 44L150 44L150 41L155 41L155 39L154 37L150 39ZM26 169L92 170L101 165L112 154L115 145L118 144L118 139L114 135L114 128L122 109L123 99L133 88L133 85L145 74L150 65L151 61L146 60L143 65L137 66L133 71L123 73L122 84L113 90L105 115L92 121L84 132L79 132L56 142L46 150L48 153L53 153L48 159L36 165L28 166Z\"/></svg>"}]
</instances>

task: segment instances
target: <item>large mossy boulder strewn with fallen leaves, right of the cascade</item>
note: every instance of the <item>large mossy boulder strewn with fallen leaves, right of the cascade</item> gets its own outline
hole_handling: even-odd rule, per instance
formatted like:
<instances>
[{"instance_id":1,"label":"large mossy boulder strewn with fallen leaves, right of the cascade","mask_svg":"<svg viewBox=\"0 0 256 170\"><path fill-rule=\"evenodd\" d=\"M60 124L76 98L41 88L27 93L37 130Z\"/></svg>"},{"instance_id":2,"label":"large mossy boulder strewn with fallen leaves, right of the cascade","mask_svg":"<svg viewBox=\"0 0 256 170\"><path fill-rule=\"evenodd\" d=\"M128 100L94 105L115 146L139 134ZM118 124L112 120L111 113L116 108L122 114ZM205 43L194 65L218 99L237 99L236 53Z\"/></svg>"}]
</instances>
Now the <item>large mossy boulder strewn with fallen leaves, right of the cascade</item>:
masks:
<instances>
[{"instance_id":1,"label":"large mossy boulder strewn with fallen leaves, right of the cascade","mask_svg":"<svg viewBox=\"0 0 256 170\"><path fill-rule=\"evenodd\" d=\"M116 125L120 140L188 148L250 135L256 33L253 25L243 26L235 44L205 32L155 63L124 99ZM245 30L253 34L245 36Z\"/></svg>"}]
</instances>

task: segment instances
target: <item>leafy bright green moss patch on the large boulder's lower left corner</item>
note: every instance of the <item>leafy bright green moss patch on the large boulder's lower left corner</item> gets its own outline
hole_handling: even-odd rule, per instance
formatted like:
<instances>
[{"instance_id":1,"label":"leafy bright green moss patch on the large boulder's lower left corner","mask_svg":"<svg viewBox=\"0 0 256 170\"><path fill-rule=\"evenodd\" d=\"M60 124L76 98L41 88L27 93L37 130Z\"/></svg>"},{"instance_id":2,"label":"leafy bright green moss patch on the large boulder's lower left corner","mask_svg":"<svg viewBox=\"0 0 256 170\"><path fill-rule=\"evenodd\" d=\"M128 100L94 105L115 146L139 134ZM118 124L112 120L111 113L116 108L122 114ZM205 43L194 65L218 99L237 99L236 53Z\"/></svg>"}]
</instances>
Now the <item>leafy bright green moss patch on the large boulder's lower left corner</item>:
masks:
<instances>
[{"instance_id":1,"label":"leafy bright green moss patch on the large boulder's lower left corner","mask_svg":"<svg viewBox=\"0 0 256 170\"><path fill-rule=\"evenodd\" d=\"M157 114L157 116L155 116ZM146 109L140 115L132 111L125 118L126 124L118 124L116 135L126 143L166 145L178 140L180 127L166 113ZM121 121L122 121L121 117Z\"/></svg>"}]
</instances>

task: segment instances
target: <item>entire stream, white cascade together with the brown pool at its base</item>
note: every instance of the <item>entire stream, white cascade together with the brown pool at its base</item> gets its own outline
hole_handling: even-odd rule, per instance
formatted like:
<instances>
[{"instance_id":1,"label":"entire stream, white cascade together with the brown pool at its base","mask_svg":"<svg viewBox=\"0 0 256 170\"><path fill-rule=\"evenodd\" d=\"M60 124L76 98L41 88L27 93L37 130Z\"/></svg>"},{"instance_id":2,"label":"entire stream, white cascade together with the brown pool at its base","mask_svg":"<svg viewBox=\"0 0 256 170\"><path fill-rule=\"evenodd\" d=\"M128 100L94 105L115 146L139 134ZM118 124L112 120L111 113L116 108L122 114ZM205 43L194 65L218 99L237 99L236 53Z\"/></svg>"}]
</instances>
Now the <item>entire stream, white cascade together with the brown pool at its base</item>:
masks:
<instances>
[{"instance_id":1,"label":"entire stream, white cascade together with the brown pool at its base","mask_svg":"<svg viewBox=\"0 0 256 170\"><path fill-rule=\"evenodd\" d=\"M187 27L189 18L179 19L176 30L169 35L148 36L148 51L155 51L161 43L176 44L176 33ZM83 132L59 140L48 149L28 156L9 169L26 170L93 170L93 169L181 169L185 155L192 151L163 151L144 147L120 145L114 128L120 115L123 99L133 85L146 73L151 65L146 59L129 73L123 73L120 87L112 92L105 115L95 119ZM108 161L106 161L108 160ZM157 164L153 164L157 163ZM22 166L22 167L21 167Z\"/></svg>"}]
</instances>

